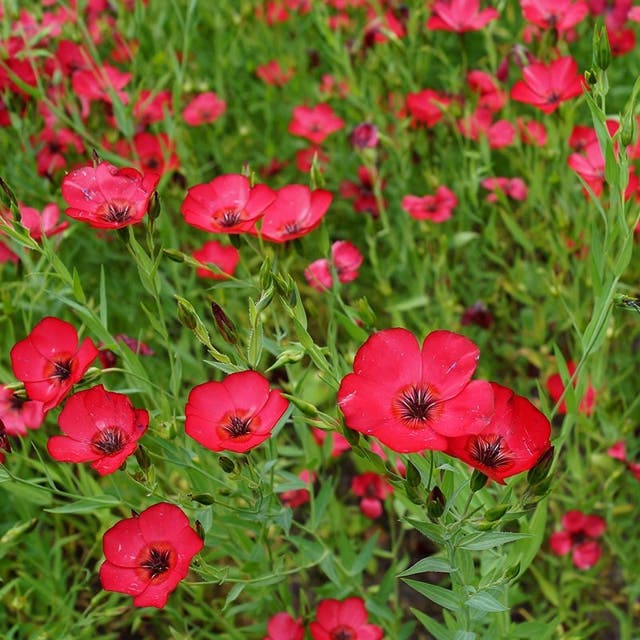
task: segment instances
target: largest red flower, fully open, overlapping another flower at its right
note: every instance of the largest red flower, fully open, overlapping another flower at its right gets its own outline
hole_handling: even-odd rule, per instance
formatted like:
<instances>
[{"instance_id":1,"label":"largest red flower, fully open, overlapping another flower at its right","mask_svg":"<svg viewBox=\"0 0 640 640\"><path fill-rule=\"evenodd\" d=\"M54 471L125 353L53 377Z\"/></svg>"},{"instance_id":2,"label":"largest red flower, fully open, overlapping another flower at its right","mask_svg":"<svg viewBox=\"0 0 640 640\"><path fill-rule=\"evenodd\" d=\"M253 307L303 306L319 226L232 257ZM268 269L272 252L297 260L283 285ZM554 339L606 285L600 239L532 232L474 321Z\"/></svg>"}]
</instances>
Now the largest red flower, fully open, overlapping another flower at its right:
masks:
<instances>
[{"instance_id":1,"label":"largest red flower, fully open, overlapping another flower at its right","mask_svg":"<svg viewBox=\"0 0 640 640\"><path fill-rule=\"evenodd\" d=\"M493 391L470 382L480 351L464 336L433 331L422 348L406 329L373 334L338 390L347 426L399 453L444 450L447 438L482 431Z\"/></svg>"}]
</instances>

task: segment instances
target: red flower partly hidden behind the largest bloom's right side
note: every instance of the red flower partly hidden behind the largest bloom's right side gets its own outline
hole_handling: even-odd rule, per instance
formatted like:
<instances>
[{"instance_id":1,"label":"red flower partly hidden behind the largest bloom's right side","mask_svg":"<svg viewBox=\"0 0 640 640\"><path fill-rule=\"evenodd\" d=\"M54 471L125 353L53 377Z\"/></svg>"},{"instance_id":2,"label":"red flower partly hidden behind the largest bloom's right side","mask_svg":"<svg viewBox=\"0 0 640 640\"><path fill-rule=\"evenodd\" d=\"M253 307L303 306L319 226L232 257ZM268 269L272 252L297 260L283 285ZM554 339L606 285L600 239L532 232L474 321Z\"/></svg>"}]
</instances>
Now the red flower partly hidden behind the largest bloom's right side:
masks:
<instances>
[{"instance_id":1,"label":"red flower partly hidden behind the largest bloom's right side","mask_svg":"<svg viewBox=\"0 0 640 640\"><path fill-rule=\"evenodd\" d=\"M491 422L473 435L449 438L446 453L504 484L505 478L535 466L549 450L551 424L526 398L492 383Z\"/></svg>"}]
</instances>

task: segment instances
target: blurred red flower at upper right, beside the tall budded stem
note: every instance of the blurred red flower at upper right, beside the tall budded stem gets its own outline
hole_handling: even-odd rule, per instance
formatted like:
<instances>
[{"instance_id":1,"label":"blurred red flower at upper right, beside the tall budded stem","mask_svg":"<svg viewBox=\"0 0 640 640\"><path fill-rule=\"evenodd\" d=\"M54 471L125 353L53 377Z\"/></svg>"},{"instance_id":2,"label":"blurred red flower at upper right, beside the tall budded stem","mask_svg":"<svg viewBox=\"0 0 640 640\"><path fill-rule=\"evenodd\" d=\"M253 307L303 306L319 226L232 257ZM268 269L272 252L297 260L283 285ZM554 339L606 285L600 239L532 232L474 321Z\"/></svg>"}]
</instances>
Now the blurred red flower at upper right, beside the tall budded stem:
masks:
<instances>
[{"instance_id":1,"label":"blurred red flower at upper right, beside the tall budded stem","mask_svg":"<svg viewBox=\"0 0 640 640\"><path fill-rule=\"evenodd\" d=\"M524 80L511 89L511 97L519 102L552 113L561 102L579 96L584 88L578 65L571 56L558 58L546 65L535 62L522 70Z\"/></svg>"}]
</instances>

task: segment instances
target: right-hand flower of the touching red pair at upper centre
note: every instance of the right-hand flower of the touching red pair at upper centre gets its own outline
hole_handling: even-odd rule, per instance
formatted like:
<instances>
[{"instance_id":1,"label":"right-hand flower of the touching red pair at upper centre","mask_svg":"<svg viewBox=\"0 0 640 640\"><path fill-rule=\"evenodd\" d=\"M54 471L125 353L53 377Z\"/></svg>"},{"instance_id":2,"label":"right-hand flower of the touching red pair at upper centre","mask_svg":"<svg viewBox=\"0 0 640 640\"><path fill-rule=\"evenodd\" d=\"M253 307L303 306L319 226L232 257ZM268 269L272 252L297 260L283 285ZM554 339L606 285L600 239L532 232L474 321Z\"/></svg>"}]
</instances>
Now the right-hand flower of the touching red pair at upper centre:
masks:
<instances>
[{"instance_id":1,"label":"right-hand flower of the touching red pair at upper centre","mask_svg":"<svg viewBox=\"0 0 640 640\"><path fill-rule=\"evenodd\" d=\"M301 184L278 189L276 199L264 212L260 235L271 242L286 242L313 231L322 222L333 200L330 191Z\"/></svg>"}]
</instances>

